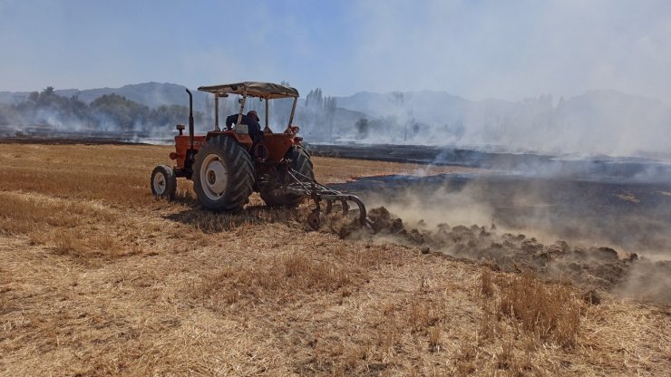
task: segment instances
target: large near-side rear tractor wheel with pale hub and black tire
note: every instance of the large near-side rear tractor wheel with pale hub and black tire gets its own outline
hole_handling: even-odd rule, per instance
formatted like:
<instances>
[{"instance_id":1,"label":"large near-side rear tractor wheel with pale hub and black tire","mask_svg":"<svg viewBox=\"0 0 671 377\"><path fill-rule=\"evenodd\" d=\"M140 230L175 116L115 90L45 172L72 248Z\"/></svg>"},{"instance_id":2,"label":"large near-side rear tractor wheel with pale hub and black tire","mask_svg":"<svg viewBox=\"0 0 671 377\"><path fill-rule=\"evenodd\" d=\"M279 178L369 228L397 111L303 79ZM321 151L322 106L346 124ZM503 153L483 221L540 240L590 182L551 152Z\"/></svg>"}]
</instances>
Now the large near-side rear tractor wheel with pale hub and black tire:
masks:
<instances>
[{"instance_id":1,"label":"large near-side rear tractor wheel with pale hub and black tire","mask_svg":"<svg viewBox=\"0 0 671 377\"><path fill-rule=\"evenodd\" d=\"M221 136L208 140L196 153L193 189L203 207L235 211L248 202L254 184L254 167L247 150Z\"/></svg>"}]
</instances>

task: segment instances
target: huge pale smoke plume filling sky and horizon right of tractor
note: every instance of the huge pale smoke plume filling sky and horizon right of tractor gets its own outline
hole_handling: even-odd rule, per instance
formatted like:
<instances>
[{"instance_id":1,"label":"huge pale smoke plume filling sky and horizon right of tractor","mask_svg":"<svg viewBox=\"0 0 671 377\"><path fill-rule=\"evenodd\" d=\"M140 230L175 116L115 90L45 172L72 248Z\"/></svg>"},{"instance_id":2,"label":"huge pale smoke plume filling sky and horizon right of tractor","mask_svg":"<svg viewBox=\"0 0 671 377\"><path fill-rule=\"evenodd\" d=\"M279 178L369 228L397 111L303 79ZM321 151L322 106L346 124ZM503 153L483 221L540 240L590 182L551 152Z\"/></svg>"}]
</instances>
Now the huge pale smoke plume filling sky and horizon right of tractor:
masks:
<instances>
[{"instance_id":1,"label":"huge pale smoke plume filling sky and horizon right of tractor","mask_svg":"<svg viewBox=\"0 0 671 377\"><path fill-rule=\"evenodd\" d=\"M338 65L350 80L320 84L384 94L337 98L367 124L339 124L336 141L588 157L671 150L669 12L663 1L360 3L364 37Z\"/></svg>"}]
</instances>

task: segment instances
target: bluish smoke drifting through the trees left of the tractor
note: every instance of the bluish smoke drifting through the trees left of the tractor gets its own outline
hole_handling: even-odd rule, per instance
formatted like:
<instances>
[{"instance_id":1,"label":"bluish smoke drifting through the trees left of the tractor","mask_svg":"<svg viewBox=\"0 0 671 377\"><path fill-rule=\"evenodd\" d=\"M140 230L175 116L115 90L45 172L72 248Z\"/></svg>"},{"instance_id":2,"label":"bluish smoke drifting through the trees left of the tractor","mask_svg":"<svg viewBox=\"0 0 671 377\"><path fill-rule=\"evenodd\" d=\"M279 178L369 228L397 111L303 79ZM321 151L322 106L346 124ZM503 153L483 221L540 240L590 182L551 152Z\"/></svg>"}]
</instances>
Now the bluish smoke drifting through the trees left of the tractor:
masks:
<instances>
[{"instance_id":1,"label":"bluish smoke drifting through the trees left of the tractor","mask_svg":"<svg viewBox=\"0 0 671 377\"><path fill-rule=\"evenodd\" d=\"M169 101L164 99L165 92L181 94L179 89L183 91L183 87L177 85L148 83L127 85L119 90L155 102ZM81 101L77 96L81 92L74 90L63 91L75 92L70 97L59 95L53 87L47 87L43 92L26 93L15 104L0 106L2 133L10 137L103 138L162 143L175 135L176 124L188 121L187 106L161 103L151 108L110 91L107 88L98 91L105 93L92 98L91 103ZM88 96L88 92L84 94ZM186 93L181 97L188 98ZM199 111L194 115L200 118L199 126L207 123L207 130L211 129L211 115L205 117Z\"/></svg>"}]
</instances>

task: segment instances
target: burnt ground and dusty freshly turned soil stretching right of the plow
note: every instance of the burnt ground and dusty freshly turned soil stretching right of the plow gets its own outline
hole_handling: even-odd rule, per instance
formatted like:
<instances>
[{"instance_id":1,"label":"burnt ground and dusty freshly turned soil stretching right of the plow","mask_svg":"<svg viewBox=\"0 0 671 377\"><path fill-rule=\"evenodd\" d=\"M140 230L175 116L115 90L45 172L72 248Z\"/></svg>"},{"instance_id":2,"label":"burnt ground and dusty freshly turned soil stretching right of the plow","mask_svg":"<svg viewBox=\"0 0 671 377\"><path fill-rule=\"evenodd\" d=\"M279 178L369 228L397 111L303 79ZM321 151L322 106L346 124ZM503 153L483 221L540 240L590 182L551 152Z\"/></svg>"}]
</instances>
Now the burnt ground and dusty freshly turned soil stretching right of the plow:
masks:
<instances>
[{"instance_id":1,"label":"burnt ground and dusty freshly turned soil stretching right of the plow","mask_svg":"<svg viewBox=\"0 0 671 377\"><path fill-rule=\"evenodd\" d=\"M669 183L483 174L369 178L348 186L364 189L374 208L376 241L671 304Z\"/></svg>"}]
</instances>

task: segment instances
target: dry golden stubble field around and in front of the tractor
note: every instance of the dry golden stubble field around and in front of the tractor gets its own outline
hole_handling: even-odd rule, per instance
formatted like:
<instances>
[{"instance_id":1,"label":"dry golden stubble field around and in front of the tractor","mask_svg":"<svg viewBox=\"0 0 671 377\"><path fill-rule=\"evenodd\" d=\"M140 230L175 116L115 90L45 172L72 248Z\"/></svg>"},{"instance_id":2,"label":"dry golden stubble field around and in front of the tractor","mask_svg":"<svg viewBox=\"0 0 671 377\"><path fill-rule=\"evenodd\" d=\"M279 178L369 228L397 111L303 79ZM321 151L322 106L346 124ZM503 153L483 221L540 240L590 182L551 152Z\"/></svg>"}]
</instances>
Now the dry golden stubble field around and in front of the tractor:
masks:
<instances>
[{"instance_id":1,"label":"dry golden stubble field around and in front of the tractor","mask_svg":"<svg viewBox=\"0 0 671 377\"><path fill-rule=\"evenodd\" d=\"M671 373L666 305L310 231L256 194L157 201L170 150L0 144L0 375ZM325 183L421 169L314 162Z\"/></svg>"}]
</instances>

